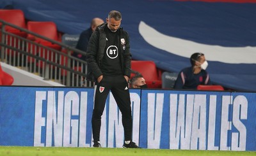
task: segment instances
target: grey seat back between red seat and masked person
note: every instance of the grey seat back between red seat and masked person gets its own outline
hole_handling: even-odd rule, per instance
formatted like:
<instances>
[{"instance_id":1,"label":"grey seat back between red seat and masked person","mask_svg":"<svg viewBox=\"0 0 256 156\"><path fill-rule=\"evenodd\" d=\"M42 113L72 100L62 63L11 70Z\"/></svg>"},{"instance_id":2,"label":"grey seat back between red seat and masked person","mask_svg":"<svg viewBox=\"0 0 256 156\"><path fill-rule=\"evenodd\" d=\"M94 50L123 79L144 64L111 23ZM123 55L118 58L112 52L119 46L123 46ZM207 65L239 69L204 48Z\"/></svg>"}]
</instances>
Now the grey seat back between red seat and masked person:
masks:
<instances>
[{"instance_id":1,"label":"grey seat back between red seat and masked person","mask_svg":"<svg viewBox=\"0 0 256 156\"><path fill-rule=\"evenodd\" d=\"M179 73L164 71L162 74L162 89L173 89Z\"/></svg>"}]
</instances>

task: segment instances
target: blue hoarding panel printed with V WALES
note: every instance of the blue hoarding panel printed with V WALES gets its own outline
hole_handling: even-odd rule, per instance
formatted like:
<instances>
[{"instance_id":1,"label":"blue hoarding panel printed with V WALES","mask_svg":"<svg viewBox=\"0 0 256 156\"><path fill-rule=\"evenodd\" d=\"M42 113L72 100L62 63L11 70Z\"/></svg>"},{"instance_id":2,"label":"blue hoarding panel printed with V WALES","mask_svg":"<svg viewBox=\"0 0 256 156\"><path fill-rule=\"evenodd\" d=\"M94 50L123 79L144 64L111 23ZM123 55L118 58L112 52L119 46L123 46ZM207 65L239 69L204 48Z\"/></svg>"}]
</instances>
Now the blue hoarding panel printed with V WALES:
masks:
<instances>
[{"instance_id":1,"label":"blue hoarding panel printed with V WALES","mask_svg":"<svg viewBox=\"0 0 256 156\"><path fill-rule=\"evenodd\" d=\"M255 93L143 90L140 145L255 150Z\"/></svg>"}]
</instances>

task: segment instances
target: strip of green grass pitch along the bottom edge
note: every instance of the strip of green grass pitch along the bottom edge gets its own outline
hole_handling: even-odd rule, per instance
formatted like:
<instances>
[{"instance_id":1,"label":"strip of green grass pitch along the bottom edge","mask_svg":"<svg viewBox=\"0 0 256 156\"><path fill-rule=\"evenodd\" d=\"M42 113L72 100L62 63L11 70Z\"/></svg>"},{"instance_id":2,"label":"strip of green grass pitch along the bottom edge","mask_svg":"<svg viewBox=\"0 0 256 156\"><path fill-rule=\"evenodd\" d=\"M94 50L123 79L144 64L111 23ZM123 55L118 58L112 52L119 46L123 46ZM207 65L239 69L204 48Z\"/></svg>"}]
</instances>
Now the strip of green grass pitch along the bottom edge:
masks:
<instances>
[{"instance_id":1,"label":"strip of green grass pitch along the bottom edge","mask_svg":"<svg viewBox=\"0 0 256 156\"><path fill-rule=\"evenodd\" d=\"M25 147L25 146L0 146L1 156L97 156L97 155L256 155L256 152L234 151L205 151L205 150L153 150L153 149L128 149L128 148L64 148L64 147Z\"/></svg>"}]
</instances>

